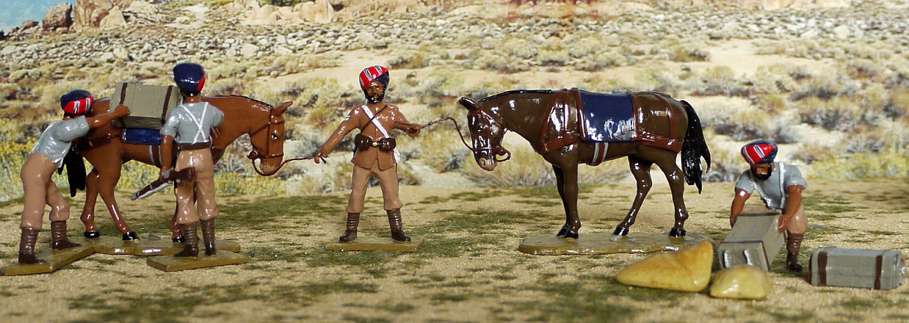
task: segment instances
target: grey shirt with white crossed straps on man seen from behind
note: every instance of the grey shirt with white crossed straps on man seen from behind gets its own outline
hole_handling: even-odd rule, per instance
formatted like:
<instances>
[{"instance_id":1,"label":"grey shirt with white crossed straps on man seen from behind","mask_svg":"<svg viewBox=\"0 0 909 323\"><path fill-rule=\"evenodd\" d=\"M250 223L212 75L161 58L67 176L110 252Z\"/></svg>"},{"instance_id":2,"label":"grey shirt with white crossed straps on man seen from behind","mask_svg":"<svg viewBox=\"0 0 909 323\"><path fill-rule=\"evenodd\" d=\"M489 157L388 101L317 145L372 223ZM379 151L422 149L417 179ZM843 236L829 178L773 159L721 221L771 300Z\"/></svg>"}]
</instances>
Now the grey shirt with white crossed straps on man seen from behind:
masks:
<instances>
[{"instance_id":1,"label":"grey shirt with white crossed straps on man seen from behind","mask_svg":"<svg viewBox=\"0 0 909 323\"><path fill-rule=\"evenodd\" d=\"M183 103L167 113L161 134L177 143L211 142L211 130L224 122L225 113L205 102Z\"/></svg>"}]
</instances>

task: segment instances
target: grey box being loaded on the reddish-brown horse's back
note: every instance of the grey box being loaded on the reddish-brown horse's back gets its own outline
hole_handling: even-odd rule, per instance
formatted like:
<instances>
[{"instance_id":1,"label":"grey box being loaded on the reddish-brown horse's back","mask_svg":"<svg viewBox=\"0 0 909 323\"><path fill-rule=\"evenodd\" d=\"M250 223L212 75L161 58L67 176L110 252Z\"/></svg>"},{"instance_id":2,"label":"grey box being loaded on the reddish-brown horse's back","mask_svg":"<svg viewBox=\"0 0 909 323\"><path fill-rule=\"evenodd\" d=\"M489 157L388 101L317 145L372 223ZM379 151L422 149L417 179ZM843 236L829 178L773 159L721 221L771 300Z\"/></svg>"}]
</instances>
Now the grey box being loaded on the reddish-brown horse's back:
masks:
<instances>
[{"instance_id":1,"label":"grey box being loaded on the reddish-brown horse's back","mask_svg":"<svg viewBox=\"0 0 909 323\"><path fill-rule=\"evenodd\" d=\"M129 115L115 120L121 128L160 130L167 113L183 102L180 89L175 86L120 83L111 96L111 110L119 104L129 108Z\"/></svg>"}]
</instances>

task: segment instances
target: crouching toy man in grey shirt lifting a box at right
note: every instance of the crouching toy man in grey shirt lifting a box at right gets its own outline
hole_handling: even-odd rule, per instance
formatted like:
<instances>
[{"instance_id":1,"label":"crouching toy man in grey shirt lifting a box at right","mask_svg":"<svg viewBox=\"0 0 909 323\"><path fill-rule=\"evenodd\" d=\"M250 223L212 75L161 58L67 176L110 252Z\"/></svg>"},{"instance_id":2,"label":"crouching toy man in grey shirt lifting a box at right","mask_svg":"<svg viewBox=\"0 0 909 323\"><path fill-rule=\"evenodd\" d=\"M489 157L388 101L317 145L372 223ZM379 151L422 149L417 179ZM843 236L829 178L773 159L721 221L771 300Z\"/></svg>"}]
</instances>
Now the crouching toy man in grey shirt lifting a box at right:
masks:
<instances>
[{"instance_id":1,"label":"crouching toy man in grey shirt lifting a box at right","mask_svg":"<svg viewBox=\"0 0 909 323\"><path fill-rule=\"evenodd\" d=\"M798 263L798 251L802 247L804 232L808 230L808 218L802 207L802 191L808 182L793 165L774 162L778 147L774 142L755 141L742 147L742 157L751 165L735 182L735 198L729 223L735 225L735 218L744 208L744 202L757 190L768 209L782 210L783 215L776 229L786 230L786 267L802 271Z\"/></svg>"}]
</instances>

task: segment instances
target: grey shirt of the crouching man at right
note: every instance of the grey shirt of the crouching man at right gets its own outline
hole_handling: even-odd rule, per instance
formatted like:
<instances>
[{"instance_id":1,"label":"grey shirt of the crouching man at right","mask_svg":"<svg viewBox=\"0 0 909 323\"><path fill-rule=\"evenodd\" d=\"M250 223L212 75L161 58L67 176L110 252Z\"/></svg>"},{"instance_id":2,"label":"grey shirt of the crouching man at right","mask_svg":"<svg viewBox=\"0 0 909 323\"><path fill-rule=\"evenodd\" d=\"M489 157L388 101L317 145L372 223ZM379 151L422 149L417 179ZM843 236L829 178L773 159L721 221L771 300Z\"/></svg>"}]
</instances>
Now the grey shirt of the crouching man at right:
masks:
<instances>
[{"instance_id":1,"label":"grey shirt of the crouching man at right","mask_svg":"<svg viewBox=\"0 0 909 323\"><path fill-rule=\"evenodd\" d=\"M774 162L774 172L770 174L769 179L757 180L752 177L750 170L744 171L735 182L735 190L747 191L749 194L757 190L768 208L783 210L786 204L785 188L793 185L802 185L803 189L808 189L808 182L804 180L798 167Z\"/></svg>"}]
</instances>

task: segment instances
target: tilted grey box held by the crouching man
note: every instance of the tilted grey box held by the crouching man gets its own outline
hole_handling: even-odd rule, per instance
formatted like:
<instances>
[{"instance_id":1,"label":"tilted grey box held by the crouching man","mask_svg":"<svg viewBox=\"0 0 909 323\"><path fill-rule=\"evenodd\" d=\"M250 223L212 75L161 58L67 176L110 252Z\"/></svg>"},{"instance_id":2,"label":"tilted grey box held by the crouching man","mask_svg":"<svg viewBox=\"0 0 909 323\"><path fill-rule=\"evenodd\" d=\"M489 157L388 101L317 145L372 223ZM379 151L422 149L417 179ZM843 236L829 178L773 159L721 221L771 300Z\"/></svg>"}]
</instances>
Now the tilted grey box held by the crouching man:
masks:
<instances>
[{"instance_id":1,"label":"tilted grey box held by the crouching man","mask_svg":"<svg viewBox=\"0 0 909 323\"><path fill-rule=\"evenodd\" d=\"M770 271L770 263L786 244L785 235L776 230L780 213L774 210L744 211L717 248L720 267L752 265Z\"/></svg>"}]
</instances>

